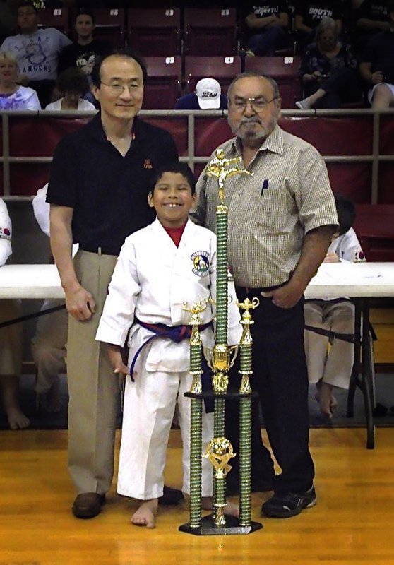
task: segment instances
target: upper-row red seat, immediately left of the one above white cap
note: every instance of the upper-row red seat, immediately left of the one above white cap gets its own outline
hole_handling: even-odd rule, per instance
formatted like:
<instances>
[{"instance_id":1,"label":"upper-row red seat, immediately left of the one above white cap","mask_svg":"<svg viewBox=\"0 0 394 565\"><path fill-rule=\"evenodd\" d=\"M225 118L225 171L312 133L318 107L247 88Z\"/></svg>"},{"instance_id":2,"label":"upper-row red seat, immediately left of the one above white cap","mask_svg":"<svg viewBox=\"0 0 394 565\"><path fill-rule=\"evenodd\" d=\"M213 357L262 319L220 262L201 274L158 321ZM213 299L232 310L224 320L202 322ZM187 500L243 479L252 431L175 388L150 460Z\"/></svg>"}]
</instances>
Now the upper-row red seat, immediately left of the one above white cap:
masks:
<instances>
[{"instance_id":1,"label":"upper-row red seat, immediately left of the one above white cap","mask_svg":"<svg viewBox=\"0 0 394 565\"><path fill-rule=\"evenodd\" d=\"M178 55L181 52L179 8L127 11L128 45L144 57Z\"/></svg>"}]
</instances>

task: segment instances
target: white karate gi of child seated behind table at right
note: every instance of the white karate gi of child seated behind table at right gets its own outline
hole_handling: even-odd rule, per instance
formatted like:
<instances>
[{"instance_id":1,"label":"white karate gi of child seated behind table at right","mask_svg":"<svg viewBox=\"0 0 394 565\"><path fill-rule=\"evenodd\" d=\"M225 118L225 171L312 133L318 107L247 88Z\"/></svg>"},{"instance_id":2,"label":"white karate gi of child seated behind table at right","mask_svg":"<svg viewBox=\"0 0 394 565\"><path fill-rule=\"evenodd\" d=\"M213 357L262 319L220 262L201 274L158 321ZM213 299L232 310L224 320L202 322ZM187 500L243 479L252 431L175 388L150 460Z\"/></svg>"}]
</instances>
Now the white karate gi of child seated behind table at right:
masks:
<instances>
[{"instance_id":1,"label":"white karate gi of child seated behind table at right","mask_svg":"<svg viewBox=\"0 0 394 565\"><path fill-rule=\"evenodd\" d=\"M352 227L344 235L333 239L328 253L333 252L341 261L365 261L362 247ZM304 313L307 326L337 333L354 333L354 304L350 300L307 300ZM309 382L317 383L322 380L333 386L349 388L354 345L340 339L330 340L326 335L313 331L305 331L304 335Z\"/></svg>"}]
</instances>

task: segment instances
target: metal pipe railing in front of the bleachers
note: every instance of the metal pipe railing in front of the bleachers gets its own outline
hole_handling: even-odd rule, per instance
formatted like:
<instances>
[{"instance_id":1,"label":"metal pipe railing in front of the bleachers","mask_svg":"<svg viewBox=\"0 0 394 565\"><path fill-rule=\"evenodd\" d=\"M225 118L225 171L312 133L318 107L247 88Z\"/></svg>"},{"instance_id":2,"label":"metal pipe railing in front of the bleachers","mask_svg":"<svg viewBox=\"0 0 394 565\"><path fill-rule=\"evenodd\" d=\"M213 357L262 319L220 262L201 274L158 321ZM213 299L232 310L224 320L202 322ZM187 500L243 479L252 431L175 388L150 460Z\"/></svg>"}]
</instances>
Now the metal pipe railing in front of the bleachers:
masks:
<instances>
[{"instance_id":1,"label":"metal pipe railing in front of the bleachers","mask_svg":"<svg viewBox=\"0 0 394 565\"><path fill-rule=\"evenodd\" d=\"M54 118L76 118L85 119L95 115L95 112L73 112L70 110L61 112L49 112L41 110L37 112L21 111L21 112L0 112L1 128L2 128L2 144L3 155L0 156L0 163L3 165L3 186L4 198L12 198L12 200L25 200L25 196L11 196L10 186L10 166L15 164L26 163L48 163L52 161L52 157L30 157L18 156L13 157L10 155L10 121L20 117L54 117ZM227 118L227 111L225 110L141 110L141 117L157 117L157 118L173 118L185 117L187 120L187 152L185 156L180 157L184 162L188 162L191 168L197 163L207 162L210 155L196 156L195 151L195 131L196 131L196 117L223 117ZM370 155L323 155L326 162L371 162L371 203L378 201L378 174L379 165L381 162L393 162L394 155L381 155L380 149L380 134L381 134L381 116L394 116L394 109L285 109L281 112L281 117L371 117L372 127L372 150Z\"/></svg>"}]
</instances>

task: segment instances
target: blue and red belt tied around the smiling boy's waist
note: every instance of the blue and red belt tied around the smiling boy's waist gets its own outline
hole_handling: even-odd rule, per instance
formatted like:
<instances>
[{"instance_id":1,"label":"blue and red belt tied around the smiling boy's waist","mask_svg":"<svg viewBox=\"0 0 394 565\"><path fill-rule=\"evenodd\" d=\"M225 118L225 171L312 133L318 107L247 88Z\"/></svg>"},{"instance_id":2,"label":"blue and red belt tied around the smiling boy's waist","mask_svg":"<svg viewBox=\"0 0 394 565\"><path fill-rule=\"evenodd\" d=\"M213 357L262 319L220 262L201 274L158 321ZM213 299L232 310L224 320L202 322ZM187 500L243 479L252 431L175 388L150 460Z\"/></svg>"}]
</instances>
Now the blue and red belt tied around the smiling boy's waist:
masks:
<instances>
[{"instance_id":1,"label":"blue and red belt tied around the smiling boy's waist","mask_svg":"<svg viewBox=\"0 0 394 565\"><path fill-rule=\"evenodd\" d=\"M140 355L141 351L148 345L150 341L156 338L169 338L170 340L174 341L175 343L181 343L182 340L186 340L190 338L191 331L193 330L193 326L166 326L165 323L145 323L138 318L135 318L134 321L138 323L142 328L153 332L153 335L150 336L144 343L138 348L136 351L133 361L131 362L130 366L130 377L131 380L133 379L133 372L134 367L136 365L138 356ZM199 326L199 331L204 331L207 328L212 327L212 322L203 323ZM201 375L201 384L203 387L203 392L208 392L212 390L212 384L210 381L210 376L208 374L208 364L205 362L203 357L203 374ZM210 402L208 399L204 399L205 402L205 412L213 412L213 399Z\"/></svg>"}]
</instances>

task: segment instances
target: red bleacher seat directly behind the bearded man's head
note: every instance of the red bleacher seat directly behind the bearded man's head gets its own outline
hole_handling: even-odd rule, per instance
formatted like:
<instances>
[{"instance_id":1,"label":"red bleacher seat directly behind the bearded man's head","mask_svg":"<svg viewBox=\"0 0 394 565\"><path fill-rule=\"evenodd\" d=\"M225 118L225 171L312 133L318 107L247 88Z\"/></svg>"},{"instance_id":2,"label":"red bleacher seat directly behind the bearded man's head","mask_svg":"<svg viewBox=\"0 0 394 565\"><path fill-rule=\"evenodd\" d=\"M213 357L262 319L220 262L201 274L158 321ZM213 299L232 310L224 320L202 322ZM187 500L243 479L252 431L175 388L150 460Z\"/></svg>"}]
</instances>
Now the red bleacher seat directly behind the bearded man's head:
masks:
<instances>
[{"instance_id":1,"label":"red bleacher seat directly behind the bearded man's head","mask_svg":"<svg viewBox=\"0 0 394 565\"><path fill-rule=\"evenodd\" d=\"M300 84L297 71L299 55L291 57L246 57L245 71L265 73L275 78L282 97L282 108L295 108L299 100Z\"/></svg>"}]
</instances>

